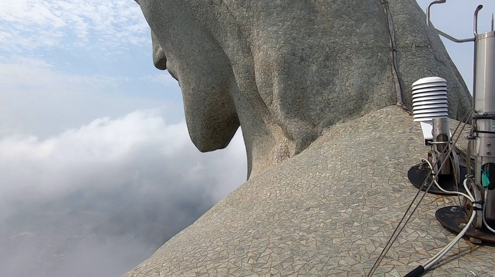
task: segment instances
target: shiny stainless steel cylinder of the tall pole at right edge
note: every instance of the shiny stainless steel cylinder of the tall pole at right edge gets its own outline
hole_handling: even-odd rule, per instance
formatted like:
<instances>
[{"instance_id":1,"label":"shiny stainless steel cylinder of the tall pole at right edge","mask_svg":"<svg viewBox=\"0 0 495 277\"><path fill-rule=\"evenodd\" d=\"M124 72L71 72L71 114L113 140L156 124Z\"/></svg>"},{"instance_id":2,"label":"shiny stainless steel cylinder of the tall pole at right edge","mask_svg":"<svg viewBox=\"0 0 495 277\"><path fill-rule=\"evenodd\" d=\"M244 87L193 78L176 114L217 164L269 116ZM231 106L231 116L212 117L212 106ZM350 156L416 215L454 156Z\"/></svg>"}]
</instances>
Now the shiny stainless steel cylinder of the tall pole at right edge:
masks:
<instances>
[{"instance_id":1,"label":"shiny stainless steel cylinder of the tall pole at right edge","mask_svg":"<svg viewBox=\"0 0 495 277\"><path fill-rule=\"evenodd\" d=\"M475 182L488 190L485 215L495 219L495 32L476 36L473 107L476 110ZM485 170L483 170L485 169ZM491 169L491 170L489 170ZM492 184L486 186L486 184Z\"/></svg>"}]
</instances>

